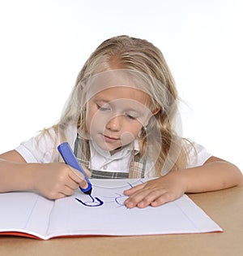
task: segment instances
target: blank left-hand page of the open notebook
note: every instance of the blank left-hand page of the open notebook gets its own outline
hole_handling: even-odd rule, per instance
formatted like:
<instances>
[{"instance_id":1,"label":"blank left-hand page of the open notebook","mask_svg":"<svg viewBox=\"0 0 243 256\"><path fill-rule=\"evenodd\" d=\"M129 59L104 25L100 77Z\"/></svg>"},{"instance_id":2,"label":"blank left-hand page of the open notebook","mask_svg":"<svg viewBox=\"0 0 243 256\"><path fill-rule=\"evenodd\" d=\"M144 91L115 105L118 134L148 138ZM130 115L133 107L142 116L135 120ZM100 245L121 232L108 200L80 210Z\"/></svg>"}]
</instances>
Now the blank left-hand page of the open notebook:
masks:
<instances>
[{"instance_id":1,"label":"blank left-hand page of the open notebook","mask_svg":"<svg viewBox=\"0 0 243 256\"><path fill-rule=\"evenodd\" d=\"M32 192L0 193L0 231L45 237L53 201Z\"/></svg>"}]
</instances>

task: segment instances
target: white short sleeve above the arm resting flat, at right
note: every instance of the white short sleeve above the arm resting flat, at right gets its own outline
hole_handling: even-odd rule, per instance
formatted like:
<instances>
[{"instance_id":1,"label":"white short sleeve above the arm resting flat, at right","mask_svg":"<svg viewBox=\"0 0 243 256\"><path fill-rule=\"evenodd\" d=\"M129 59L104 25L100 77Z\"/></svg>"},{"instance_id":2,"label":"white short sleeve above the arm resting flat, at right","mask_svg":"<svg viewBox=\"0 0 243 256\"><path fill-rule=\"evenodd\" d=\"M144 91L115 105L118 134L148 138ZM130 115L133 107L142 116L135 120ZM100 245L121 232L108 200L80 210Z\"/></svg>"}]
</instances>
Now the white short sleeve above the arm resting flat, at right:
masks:
<instances>
[{"instance_id":1,"label":"white short sleeve above the arm resting flat, at right","mask_svg":"<svg viewBox=\"0 0 243 256\"><path fill-rule=\"evenodd\" d=\"M203 165L208 158L211 158L212 154L196 142L185 142L186 152L188 154L188 166L187 167L198 167Z\"/></svg>"}]
</instances>

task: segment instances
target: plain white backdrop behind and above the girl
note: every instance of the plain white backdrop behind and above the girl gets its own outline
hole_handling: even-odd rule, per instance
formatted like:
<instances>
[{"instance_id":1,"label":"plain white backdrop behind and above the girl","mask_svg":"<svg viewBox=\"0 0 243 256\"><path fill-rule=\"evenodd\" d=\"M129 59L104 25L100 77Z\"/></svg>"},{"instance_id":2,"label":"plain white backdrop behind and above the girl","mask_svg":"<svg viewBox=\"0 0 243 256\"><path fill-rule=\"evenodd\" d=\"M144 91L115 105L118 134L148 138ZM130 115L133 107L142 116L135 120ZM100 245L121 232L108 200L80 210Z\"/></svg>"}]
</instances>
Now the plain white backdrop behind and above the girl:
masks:
<instances>
[{"instance_id":1,"label":"plain white backdrop behind and above the girl","mask_svg":"<svg viewBox=\"0 0 243 256\"><path fill-rule=\"evenodd\" d=\"M183 134L243 170L241 0L0 0L0 152L55 123L96 46L127 34L162 50Z\"/></svg>"}]
</instances>

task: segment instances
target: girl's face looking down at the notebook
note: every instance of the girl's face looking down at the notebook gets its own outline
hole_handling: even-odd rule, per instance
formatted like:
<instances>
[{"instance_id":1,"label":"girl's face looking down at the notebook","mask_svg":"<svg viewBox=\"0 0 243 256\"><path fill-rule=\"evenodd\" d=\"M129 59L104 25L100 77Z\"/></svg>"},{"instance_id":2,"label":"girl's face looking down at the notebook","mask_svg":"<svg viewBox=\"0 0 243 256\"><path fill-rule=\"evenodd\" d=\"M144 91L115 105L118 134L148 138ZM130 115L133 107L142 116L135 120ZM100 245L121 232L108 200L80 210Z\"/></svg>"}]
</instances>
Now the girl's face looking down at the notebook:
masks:
<instances>
[{"instance_id":1,"label":"girl's face looking down at the notebook","mask_svg":"<svg viewBox=\"0 0 243 256\"><path fill-rule=\"evenodd\" d=\"M134 141L147 125L151 117L147 102L147 94L139 89L104 89L87 102L87 132L102 150L117 150Z\"/></svg>"}]
</instances>

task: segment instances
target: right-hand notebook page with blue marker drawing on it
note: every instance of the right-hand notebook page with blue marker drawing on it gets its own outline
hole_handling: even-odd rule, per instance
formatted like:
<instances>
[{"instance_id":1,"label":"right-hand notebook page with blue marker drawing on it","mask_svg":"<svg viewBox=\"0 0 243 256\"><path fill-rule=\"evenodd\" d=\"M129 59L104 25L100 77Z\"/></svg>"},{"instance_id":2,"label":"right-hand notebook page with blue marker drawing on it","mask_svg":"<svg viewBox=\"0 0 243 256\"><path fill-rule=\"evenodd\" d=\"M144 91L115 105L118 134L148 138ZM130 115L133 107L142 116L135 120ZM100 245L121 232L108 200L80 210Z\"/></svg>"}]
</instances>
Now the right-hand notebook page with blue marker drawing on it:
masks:
<instances>
[{"instance_id":1,"label":"right-hand notebook page with blue marker drawing on it","mask_svg":"<svg viewBox=\"0 0 243 256\"><path fill-rule=\"evenodd\" d=\"M141 180L92 180L92 197L101 206L83 206L75 198L94 205L92 197L77 191L72 197L55 202L48 236L60 235L150 235L215 232L222 229L184 195L163 206L127 209L125 189Z\"/></svg>"}]
</instances>

